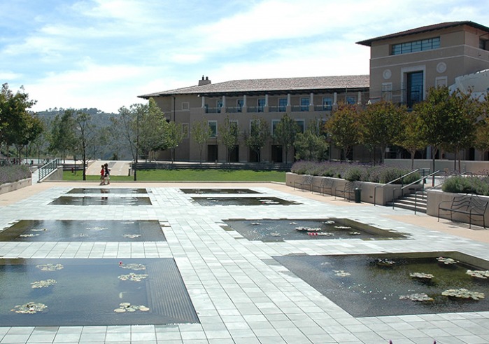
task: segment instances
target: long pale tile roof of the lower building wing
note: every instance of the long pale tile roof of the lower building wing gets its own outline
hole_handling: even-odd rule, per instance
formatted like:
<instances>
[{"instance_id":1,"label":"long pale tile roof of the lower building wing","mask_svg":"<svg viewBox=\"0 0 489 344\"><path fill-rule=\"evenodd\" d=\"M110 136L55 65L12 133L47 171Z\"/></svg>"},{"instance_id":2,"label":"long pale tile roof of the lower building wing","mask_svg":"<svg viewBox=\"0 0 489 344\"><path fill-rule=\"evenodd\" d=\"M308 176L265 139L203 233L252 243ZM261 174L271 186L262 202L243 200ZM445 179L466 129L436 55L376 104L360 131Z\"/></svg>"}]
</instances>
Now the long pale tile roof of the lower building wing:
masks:
<instances>
[{"instance_id":1,"label":"long pale tile roof of the lower building wing","mask_svg":"<svg viewBox=\"0 0 489 344\"><path fill-rule=\"evenodd\" d=\"M140 95L140 98L165 95L222 95L243 93L284 93L306 92L320 90L344 90L355 88L369 88L369 75L347 76L311 76L304 78L266 78L233 80L223 83L210 83L208 85L190 86L167 90L163 92Z\"/></svg>"}]
</instances>

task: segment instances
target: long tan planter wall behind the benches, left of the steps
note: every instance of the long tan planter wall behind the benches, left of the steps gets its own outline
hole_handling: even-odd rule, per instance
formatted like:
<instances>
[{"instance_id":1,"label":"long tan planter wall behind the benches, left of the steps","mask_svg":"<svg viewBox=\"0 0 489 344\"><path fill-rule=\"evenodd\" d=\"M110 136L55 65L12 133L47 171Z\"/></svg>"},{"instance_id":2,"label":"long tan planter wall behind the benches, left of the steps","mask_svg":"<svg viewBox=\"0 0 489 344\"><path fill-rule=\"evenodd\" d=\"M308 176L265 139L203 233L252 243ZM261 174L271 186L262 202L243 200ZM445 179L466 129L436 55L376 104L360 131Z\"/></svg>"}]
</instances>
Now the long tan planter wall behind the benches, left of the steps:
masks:
<instances>
[{"instance_id":1,"label":"long tan planter wall behind the benches, left of the steps","mask_svg":"<svg viewBox=\"0 0 489 344\"><path fill-rule=\"evenodd\" d=\"M303 177L302 174L287 173L285 175L285 184L290 187L294 187L294 182ZM328 178L333 181L333 190L343 190L345 184L348 183L345 179L331 178L331 177L313 177L313 191L320 191L321 179ZM399 198L401 196L401 185L400 184L380 184L380 183L370 183L368 181L357 181L357 184L362 188L362 202L367 202L376 205L386 205L388 202L392 201L392 198ZM412 188L420 190L423 188L422 184L413 185ZM404 191L404 194L407 192ZM375 202L374 202L375 198Z\"/></svg>"}]
</instances>

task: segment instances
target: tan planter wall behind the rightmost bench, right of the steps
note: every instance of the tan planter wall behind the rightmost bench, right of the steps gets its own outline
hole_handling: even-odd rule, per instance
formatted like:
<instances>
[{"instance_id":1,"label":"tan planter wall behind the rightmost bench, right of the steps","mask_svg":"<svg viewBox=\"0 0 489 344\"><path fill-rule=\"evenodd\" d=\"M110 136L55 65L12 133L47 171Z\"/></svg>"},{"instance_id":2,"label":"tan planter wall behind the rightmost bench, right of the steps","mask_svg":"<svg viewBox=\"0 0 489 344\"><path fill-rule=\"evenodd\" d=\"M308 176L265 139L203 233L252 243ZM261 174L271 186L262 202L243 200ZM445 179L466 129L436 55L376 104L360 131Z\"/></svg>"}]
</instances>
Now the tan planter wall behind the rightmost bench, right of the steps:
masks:
<instances>
[{"instance_id":1,"label":"tan planter wall behind the rightmost bench, right of the steps","mask_svg":"<svg viewBox=\"0 0 489 344\"><path fill-rule=\"evenodd\" d=\"M440 202L444 201L451 201L455 196L460 196L463 195L463 193L450 193L450 192L444 192L441 190L430 190L427 191L427 209L426 209L426 214L438 217L438 205ZM481 198L483 201L489 201L489 197L487 196L481 196L478 195L478 198ZM441 219L450 219L450 212L444 212L443 210L440 211L440 217ZM486 219L486 224L489 223L489 209L486 211L486 214L484 215ZM463 222L463 223L469 223L469 215L467 214L459 214L459 213L453 213L452 216L453 221L458 221L458 222ZM475 224L477 226L482 226L483 221L481 216L473 216L472 217L472 224Z\"/></svg>"}]
</instances>

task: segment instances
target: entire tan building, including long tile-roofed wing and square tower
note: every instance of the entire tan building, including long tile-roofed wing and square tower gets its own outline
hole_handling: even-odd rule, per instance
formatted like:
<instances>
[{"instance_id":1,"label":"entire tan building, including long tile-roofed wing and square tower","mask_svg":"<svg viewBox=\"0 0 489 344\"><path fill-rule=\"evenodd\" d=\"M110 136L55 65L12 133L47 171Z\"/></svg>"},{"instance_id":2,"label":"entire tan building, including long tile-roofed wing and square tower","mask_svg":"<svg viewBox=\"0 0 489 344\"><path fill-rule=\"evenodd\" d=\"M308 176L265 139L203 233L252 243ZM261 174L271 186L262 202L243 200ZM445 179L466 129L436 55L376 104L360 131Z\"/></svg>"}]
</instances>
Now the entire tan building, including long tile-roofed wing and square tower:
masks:
<instances>
[{"instance_id":1,"label":"entire tan building, including long tile-roofed wing and square tower","mask_svg":"<svg viewBox=\"0 0 489 344\"><path fill-rule=\"evenodd\" d=\"M470 21L444 22L357 42L370 47L369 75L215 84L203 76L198 85L139 97L153 97L169 119L183 124L185 139L176 150L176 160L199 160L197 144L190 138L190 126L205 118L213 130L213 137L206 145L205 160L225 161L227 152L219 143L218 128L227 116L238 123L241 132L249 130L254 116L260 116L267 120L273 132L283 113L295 118L304 130L311 121L325 120L339 102L360 106L383 99L411 107L425 99L431 87L450 86L463 79L465 87L472 88L474 78L461 77L489 69L488 42L489 27ZM168 158L165 154L162 152L160 158ZM280 163L285 160L283 154L281 146L270 140L262 150L262 160ZM394 151L391 157L399 158L401 153ZM361 147L355 147L350 158L368 160ZM425 158L430 158L429 153ZM483 160L474 149L467 150L462 158ZM256 157L241 142L232 152L231 160L249 162Z\"/></svg>"}]
</instances>

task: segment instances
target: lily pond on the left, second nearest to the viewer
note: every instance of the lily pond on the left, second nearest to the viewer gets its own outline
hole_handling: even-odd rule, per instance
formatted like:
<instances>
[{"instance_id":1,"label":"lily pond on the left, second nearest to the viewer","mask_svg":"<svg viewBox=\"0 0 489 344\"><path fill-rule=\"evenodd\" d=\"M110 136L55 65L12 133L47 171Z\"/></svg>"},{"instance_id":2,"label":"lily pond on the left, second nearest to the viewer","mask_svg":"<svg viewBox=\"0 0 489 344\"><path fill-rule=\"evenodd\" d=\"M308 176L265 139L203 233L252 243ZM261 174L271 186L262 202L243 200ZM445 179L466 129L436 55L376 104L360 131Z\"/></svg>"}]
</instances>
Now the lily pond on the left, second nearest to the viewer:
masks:
<instances>
[{"instance_id":1,"label":"lily pond on the left, second nearest to the viewer","mask_svg":"<svg viewBox=\"0 0 489 344\"><path fill-rule=\"evenodd\" d=\"M21 220L0 232L0 241L166 241L158 221Z\"/></svg>"}]
</instances>

